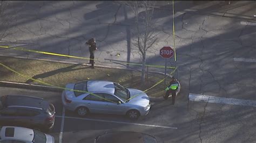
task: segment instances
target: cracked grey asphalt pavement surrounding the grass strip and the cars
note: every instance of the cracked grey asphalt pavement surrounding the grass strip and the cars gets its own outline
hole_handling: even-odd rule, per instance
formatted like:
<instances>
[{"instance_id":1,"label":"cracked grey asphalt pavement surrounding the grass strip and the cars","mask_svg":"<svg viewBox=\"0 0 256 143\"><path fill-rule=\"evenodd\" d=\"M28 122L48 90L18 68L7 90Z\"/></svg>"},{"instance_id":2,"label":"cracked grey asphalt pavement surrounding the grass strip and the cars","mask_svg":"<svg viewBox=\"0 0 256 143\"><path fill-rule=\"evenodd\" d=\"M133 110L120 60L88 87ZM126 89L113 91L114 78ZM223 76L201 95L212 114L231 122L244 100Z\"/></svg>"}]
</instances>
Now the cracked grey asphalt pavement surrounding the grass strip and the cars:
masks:
<instances>
[{"instance_id":1,"label":"cracked grey asphalt pavement surrounding the grass strip and the cars","mask_svg":"<svg viewBox=\"0 0 256 143\"><path fill-rule=\"evenodd\" d=\"M142 60L138 50L131 46L131 42L136 39L132 34L136 27L133 25L133 14L125 5L114 2L6 3L9 4L4 13L8 15L3 16L7 16L7 20L10 18L6 21L9 26L0 33L6 34L1 41L8 42L9 46L21 46L24 44L14 42L23 42L23 47L28 49L89 57L84 43L96 37L99 51L95 57L100 61L96 61L96 65L118 66L103 62L105 58L131 62ZM168 2L157 4L153 20L159 32L159 41L147 52L147 63L164 65L159 49L174 45L170 14L172 5ZM174 76L180 81L182 90L176 105L170 105L170 100L156 101L148 116L133 122L123 116L113 115L86 117L90 120L68 118L77 116L65 111L62 142L76 142L83 138L87 141L111 130L142 131L156 135L165 142L255 142L254 106L193 102L188 99L189 94L200 94L256 100L256 19L252 17L256 13L255 5L253 1L232 2L230 5L221 1L177 1L174 13L177 62L173 58L167 60L167 66L179 67ZM120 56L115 56L117 53ZM0 55L86 62L14 49L1 49ZM237 60L239 58L242 60ZM1 92L31 94L55 104L59 117L56 117L51 134L55 135L58 142L62 123L60 93L3 88Z\"/></svg>"}]
</instances>

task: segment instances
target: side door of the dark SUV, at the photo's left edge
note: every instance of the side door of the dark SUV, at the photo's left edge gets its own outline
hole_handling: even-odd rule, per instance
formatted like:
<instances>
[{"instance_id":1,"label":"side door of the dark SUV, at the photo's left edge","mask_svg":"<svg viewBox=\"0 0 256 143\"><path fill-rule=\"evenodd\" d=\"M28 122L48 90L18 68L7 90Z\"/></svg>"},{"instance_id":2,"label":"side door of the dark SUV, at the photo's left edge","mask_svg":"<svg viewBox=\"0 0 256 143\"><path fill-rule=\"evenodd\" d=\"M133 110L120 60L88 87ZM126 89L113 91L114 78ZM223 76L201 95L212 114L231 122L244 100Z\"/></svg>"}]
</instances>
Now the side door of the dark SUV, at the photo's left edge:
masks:
<instances>
[{"instance_id":1,"label":"side door of the dark SUV, at the photo's left edge","mask_svg":"<svg viewBox=\"0 0 256 143\"><path fill-rule=\"evenodd\" d=\"M7 108L0 111L0 124L1 125L16 125L19 124L15 108Z\"/></svg>"}]
</instances>

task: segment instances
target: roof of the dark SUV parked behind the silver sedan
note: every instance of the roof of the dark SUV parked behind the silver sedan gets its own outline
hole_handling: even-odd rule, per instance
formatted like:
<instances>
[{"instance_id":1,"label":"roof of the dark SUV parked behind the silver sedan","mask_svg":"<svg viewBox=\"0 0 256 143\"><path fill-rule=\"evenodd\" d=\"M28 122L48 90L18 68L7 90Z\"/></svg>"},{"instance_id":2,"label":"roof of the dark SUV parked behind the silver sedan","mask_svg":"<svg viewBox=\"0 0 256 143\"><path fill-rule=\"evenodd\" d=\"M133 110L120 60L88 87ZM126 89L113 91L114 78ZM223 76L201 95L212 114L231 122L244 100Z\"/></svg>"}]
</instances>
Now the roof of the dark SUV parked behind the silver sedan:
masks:
<instances>
[{"instance_id":1,"label":"roof of the dark SUV parked behind the silver sedan","mask_svg":"<svg viewBox=\"0 0 256 143\"><path fill-rule=\"evenodd\" d=\"M24 95L6 95L2 97L2 104L4 107L30 106L33 108L42 108L44 110L49 107L49 102L44 101L43 98Z\"/></svg>"}]
</instances>

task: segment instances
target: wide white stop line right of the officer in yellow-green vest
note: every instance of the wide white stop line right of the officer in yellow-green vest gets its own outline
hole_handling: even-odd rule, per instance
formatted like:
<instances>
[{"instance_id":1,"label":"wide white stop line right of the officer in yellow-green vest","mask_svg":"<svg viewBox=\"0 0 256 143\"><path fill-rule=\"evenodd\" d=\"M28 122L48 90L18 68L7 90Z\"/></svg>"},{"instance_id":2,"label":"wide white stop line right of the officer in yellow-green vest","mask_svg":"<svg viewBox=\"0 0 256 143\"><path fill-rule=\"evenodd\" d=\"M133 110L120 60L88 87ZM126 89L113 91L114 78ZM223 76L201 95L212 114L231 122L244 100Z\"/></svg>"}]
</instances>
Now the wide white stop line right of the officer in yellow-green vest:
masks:
<instances>
[{"instance_id":1,"label":"wide white stop line right of the officer in yellow-green vest","mask_svg":"<svg viewBox=\"0 0 256 143\"><path fill-rule=\"evenodd\" d=\"M208 102L208 103L220 103L220 104L231 104L241 106L254 106L256 107L256 101L245 100L245 99L234 99L225 97L215 97L207 95L189 94L188 98L190 101Z\"/></svg>"}]
</instances>

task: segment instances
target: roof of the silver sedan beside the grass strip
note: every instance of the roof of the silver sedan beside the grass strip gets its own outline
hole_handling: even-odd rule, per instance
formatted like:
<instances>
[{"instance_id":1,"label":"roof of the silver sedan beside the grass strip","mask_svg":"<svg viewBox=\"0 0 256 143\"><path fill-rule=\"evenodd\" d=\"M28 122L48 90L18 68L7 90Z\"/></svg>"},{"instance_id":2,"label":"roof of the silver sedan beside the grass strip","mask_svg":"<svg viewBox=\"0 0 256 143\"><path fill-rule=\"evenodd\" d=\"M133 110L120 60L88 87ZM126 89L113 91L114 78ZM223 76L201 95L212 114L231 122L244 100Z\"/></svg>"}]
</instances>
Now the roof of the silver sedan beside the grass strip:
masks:
<instances>
[{"instance_id":1,"label":"roof of the silver sedan beside the grass strip","mask_svg":"<svg viewBox=\"0 0 256 143\"><path fill-rule=\"evenodd\" d=\"M89 80L87 81L87 91L114 94L114 83L110 81Z\"/></svg>"}]
</instances>

